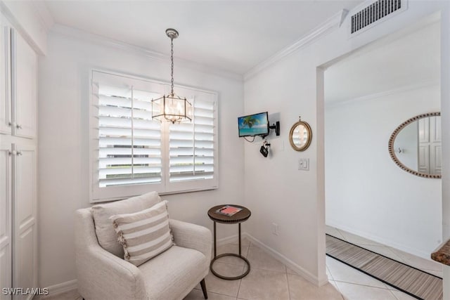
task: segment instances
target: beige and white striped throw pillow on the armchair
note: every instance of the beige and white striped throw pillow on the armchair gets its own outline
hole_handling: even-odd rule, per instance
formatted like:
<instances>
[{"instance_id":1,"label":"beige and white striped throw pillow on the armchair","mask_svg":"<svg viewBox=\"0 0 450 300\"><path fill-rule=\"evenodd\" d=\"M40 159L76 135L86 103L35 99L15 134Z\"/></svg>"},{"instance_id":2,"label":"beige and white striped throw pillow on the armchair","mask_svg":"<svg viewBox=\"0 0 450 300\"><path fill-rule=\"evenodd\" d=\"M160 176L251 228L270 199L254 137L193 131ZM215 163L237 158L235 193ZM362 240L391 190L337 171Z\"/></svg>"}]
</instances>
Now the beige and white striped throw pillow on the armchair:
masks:
<instances>
[{"instance_id":1,"label":"beige and white striped throw pillow on the armchair","mask_svg":"<svg viewBox=\"0 0 450 300\"><path fill-rule=\"evenodd\" d=\"M174 244L169 228L167 201L133 214L111 216L124 259L139 266Z\"/></svg>"}]
</instances>

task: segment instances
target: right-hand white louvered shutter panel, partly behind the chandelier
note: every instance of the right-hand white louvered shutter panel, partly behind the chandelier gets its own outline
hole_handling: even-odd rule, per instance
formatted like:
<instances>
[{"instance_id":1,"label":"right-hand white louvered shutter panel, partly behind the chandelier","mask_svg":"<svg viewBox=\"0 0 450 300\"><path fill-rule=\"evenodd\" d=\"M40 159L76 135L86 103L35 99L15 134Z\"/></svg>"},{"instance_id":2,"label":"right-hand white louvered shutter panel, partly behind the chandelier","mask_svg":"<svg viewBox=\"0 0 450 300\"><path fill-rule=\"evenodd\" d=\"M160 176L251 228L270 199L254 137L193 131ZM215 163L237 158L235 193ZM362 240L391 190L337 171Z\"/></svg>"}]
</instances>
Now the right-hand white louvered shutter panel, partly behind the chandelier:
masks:
<instances>
[{"instance_id":1,"label":"right-hand white louvered shutter panel, partly behind the chandelier","mask_svg":"<svg viewBox=\"0 0 450 300\"><path fill-rule=\"evenodd\" d=\"M193 122L169 125L169 181L214 178L215 102L191 99Z\"/></svg>"}]
</instances>

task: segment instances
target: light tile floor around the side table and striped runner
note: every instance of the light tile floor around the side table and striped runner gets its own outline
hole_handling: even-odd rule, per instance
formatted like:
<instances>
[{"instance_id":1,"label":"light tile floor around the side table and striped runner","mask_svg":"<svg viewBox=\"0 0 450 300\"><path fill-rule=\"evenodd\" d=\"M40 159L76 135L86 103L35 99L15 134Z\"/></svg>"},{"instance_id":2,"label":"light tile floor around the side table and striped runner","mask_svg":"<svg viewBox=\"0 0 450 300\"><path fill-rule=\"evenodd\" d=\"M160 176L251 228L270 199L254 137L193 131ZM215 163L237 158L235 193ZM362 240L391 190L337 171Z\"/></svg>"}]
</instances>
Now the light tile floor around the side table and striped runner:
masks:
<instances>
[{"instance_id":1,"label":"light tile floor around the side table and striped runner","mask_svg":"<svg viewBox=\"0 0 450 300\"><path fill-rule=\"evenodd\" d=\"M378 251L380 254L392 257L398 261L409 263L422 268L429 273L442 276L439 263L421 259L406 254L397 249L367 240L327 226L326 232L347 240L361 247ZM237 252L236 243L224 244L218 247L217 254ZM375 280L370 276L350 268L335 259L326 257L326 273L329 283L323 287L316 287L304 280L295 271L287 268L269 254L248 240L243 240L243 256L251 265L250 273L241 280L221 280L211 273L206 277L206 286L210 300L238 300L238 299L270 299L270 300L404 300L414 299L396 289ZM214 269L222 275L238 275L243 273L246 266L240 259L224 257L214 263ZM46 300L79 300L82 299L76 291L49 296ZM167 299L169 300L169 299ZM200 285L186 296L184 300L203 300Z\"/></svg>"}]
</instances>

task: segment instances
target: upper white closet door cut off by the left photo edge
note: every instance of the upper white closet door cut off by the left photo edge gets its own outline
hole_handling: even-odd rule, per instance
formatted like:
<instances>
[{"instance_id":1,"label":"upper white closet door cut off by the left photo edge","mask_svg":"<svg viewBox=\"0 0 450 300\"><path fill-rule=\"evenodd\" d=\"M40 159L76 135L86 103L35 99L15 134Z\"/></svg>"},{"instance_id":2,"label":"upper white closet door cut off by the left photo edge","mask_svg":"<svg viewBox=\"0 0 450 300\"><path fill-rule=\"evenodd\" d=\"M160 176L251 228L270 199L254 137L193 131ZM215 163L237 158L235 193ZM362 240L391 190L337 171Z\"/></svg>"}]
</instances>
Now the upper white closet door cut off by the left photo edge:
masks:
<instances>
[{"instance_id":1,"label":"upper white closet door cut off by the left photo edge","mask_svg":"<svg viewBox=\"0 0 450 300\"><path fill-rule=\"evenodd\" d=\"M0 133L11 134L10 27L0 14Z\"/></svg>"}]
</instances>

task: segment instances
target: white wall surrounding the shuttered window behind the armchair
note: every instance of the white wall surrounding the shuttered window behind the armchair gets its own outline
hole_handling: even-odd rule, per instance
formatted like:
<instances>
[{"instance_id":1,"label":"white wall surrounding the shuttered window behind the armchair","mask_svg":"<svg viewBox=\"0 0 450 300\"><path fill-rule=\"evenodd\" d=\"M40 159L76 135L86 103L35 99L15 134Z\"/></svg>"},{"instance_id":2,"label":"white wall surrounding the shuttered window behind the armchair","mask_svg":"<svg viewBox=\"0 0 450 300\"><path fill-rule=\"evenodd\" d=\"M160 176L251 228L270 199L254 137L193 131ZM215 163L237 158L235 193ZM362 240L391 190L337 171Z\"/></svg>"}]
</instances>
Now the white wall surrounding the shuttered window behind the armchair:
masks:
<instances>
[{"instance_id":1,"label":"white wall surrounding the shuttered window behind the armchair","mask_svg":"<svg viewBox=\"0 0 450 300\"><path fill-rule=\"evenodd\" d=\"M55 32L49 34L47 55L39 60L41 287L76 278L73 216L76 209L90 206L90 68L169 79L169 60L156 60L138 52ZM178 66L176 58L174 78L175 84L219 93L219 189L163 197L169 200L171 218L212 229L207 209L222 203L243 202L243 143L236 131L236 119L243 114L243 83ZM233 226L218 226L218 230L219 238L237 234Z\"/></svg>"}]
</instances>

